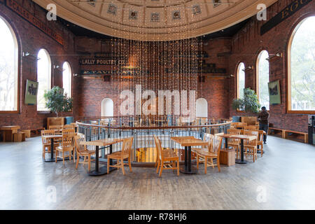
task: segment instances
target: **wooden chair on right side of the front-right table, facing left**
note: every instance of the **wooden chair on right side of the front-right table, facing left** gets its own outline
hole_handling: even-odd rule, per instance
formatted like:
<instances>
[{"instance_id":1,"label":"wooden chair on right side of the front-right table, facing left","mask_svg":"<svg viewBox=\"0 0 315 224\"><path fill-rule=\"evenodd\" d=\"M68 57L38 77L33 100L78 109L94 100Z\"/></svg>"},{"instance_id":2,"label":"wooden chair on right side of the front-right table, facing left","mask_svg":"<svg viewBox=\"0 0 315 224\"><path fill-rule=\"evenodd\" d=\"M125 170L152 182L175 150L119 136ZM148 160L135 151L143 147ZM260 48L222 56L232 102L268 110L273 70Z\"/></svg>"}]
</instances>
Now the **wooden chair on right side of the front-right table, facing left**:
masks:
<instances>
[{"instance_id":1,"label":"wooden chair on right side of the front-right table, facing left","mask_svg":"<svg viewBox=\"0 0 315 224\"><path fill-rule=\"evenodd\" d=\"M222 137L216 135L211 141L209 151L200 151L197 153L197 169L199 169L200 158L204 159L204 174L207 174L207 166L218 167L218 171L221 172L220 169L220 151L222 145ZM216 165L214 164L214 159L216 159ZM208 163L208 161L211 161Z\"/></svg>"}]
</instances>

